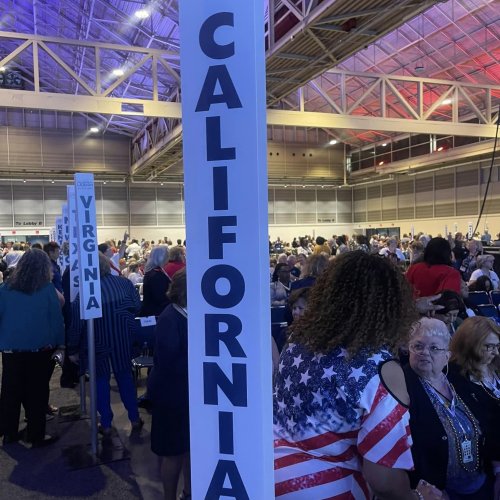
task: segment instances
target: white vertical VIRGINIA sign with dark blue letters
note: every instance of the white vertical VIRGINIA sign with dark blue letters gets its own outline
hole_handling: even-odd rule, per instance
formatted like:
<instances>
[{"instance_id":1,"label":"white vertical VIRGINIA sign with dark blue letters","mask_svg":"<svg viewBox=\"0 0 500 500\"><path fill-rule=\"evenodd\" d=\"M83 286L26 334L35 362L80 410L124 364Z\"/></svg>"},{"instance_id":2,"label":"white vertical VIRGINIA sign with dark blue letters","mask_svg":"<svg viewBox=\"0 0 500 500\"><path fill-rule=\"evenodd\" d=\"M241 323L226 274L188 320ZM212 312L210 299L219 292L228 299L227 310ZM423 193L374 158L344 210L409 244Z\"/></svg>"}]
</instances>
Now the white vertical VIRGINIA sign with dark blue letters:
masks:
<instances>
[{"instance_id":1,"label":"white vertical VIRGINIA sign with dark blue letters","mask_svg":"<svg viewBox=\"0 0 500 500\"><path fill-rule=\"evenodd\" d=\"M75 174L81 319L102 316L93 174Z\"/></svg>"}]
</instances>

